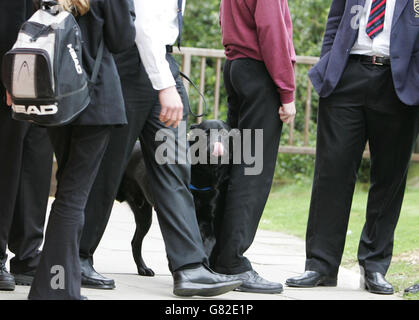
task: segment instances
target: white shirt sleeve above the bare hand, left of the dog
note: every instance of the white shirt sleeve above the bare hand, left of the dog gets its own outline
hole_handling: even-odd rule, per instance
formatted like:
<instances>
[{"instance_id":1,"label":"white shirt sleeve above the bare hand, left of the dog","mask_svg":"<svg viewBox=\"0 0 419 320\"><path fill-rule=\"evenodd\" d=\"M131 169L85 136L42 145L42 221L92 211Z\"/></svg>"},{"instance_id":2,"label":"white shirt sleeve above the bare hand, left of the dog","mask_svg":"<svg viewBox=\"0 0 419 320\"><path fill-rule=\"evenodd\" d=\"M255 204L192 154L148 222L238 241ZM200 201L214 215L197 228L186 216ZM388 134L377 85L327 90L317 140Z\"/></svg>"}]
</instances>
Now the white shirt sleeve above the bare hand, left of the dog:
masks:
<instances>
[{"instance_id":1,"label":"white shirt sleeve above the bare hand, left of the dog","mask_svg":"<svg viewBox=\"0 0 419 320\"><path fill-rule=\"evenodd\" d=\"M176 0L170 0L176 1ZM158 1L134 0L135 42L140 52L141 61L155 90L163 90L176 85L169 63L166 60L164 37L164 18L160 15ZM169 23L167 21L166 23Z\"/></svg>"}]
</instances>

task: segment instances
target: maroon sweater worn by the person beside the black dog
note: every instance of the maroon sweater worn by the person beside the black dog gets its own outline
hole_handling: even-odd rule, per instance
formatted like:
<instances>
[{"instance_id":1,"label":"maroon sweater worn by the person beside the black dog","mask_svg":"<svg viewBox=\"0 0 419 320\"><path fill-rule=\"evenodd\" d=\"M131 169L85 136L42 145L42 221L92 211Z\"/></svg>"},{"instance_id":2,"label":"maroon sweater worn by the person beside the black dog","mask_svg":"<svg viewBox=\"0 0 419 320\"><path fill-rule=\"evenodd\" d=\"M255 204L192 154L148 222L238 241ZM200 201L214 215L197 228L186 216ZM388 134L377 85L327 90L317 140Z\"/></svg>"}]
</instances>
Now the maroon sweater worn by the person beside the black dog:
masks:
<instances>
[{"instance_id":1,"label":"maroon sweater worn by the person beside the black dog","mask_svg":"<svg viewBox=\"0 0 419 320\"><path fill-rule=\"evenodd\" d=\"M222 0L220 24L227 59L263 61L282 103L292 102L296 57L287 0Z\"/></svg>"}]
</instances>

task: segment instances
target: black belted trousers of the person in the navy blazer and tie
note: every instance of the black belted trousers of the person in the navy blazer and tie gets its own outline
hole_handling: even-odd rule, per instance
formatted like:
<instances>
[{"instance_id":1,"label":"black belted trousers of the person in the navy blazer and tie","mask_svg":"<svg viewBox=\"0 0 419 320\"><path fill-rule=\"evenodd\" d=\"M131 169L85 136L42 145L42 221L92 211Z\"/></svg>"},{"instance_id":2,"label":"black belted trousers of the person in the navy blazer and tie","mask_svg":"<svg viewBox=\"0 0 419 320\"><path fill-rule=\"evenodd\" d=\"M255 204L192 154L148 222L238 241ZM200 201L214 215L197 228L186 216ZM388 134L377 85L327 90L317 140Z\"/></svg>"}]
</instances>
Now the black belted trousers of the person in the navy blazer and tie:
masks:
<instances>
[{"instance_id":1,"label":"black belted trousers of the person in the navy blazer and tie","mask_svg":"<svg viewBox=\"0 0 419 320\"><path fill-rule=\"evenodd\" d=\"M390 67L350 58L334 93L320 101L306 270L338 273L368 141L371 185L358 261L368 272L386 274L418 125L418 109L398 99Z\"/></svg>"}]
</instances>

